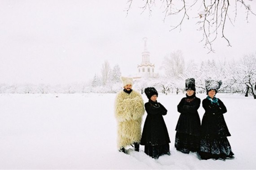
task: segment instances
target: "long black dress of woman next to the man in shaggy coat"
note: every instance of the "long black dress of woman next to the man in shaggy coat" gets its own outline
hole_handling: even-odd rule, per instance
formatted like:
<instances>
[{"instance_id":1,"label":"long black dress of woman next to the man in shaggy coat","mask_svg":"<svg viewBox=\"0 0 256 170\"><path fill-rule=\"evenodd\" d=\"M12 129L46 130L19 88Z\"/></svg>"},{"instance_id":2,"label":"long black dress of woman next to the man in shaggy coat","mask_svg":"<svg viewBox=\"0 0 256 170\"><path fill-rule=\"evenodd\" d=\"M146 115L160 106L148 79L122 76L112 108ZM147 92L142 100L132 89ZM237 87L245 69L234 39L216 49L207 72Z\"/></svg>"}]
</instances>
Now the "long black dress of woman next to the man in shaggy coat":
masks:
<instances>
[{"instance_id":1,"label":"long black dress of woman next to the man in shaggy coat","mask_svg":"<svg viewBox=\"0 0 256 170\"><path fill-rule=\"evenodd\" d=\"M167 114L165 107L159 102L145 103L147 117L141 135L141 145L145 145L145 153L157 159L163 154L170 155L170 138L163 115Z\"/></svg>"}]
</instances>

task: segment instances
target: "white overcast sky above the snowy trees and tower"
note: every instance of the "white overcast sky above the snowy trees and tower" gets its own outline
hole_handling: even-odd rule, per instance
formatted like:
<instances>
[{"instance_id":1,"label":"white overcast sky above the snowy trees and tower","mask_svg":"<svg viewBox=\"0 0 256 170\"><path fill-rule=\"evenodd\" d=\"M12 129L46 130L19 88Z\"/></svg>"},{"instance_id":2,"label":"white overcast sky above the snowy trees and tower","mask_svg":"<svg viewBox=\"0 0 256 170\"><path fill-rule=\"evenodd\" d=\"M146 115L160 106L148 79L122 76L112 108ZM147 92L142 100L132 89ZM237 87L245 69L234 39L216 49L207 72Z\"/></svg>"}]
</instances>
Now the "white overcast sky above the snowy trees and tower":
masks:
<instances>
[{"instance_id":1,"label":"white overcast sky above the snowy trees and tower","mask_svg":"<svg viewBox=\"0 0 256 170\"><path fill-rule=\"evenodd\" d=\"M243 8L238 8L234 26L226 26L232 47L220 36L213 45L216 53L207 54L193 16L181 32L170 31L175 20L163 22L160 5L149 17L134 3L127 16L126 2L0 0L0 83L86 82L100 74L105 60L111 67L119 64L123 75L129 75L141 63L143 37L148 38L156 71L163 57L176 50L185 60L195 61L239 58L256 51L256 16L250 15L247 23ZM250 3L256 12L256 2Z\"/></svg>"}]
</instances>

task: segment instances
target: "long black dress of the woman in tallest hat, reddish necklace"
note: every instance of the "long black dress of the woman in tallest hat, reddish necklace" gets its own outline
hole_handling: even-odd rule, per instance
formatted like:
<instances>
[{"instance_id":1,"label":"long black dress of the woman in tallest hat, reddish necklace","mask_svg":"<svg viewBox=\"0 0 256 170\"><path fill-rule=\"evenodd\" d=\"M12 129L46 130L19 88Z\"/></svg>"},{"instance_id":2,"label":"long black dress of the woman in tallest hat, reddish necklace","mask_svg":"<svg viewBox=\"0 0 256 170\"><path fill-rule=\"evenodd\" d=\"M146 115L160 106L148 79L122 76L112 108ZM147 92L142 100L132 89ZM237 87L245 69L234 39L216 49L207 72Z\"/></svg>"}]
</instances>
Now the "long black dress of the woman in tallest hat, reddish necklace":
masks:
<instances>
[{"instance_id":1,"label":"long black dress of the woman in tallest hat, reddish necklace","mask_svg":"<svg viewBox=\"0 0 256 170\"><path fill-rule=\"evenodd\" d=\"M201 121L198 109L201 100L195 94L186 95L178 104L178 112L181 113L175 128L175 147L182 153L198 152L200 146Z\"/></svg>"}]
</instances>

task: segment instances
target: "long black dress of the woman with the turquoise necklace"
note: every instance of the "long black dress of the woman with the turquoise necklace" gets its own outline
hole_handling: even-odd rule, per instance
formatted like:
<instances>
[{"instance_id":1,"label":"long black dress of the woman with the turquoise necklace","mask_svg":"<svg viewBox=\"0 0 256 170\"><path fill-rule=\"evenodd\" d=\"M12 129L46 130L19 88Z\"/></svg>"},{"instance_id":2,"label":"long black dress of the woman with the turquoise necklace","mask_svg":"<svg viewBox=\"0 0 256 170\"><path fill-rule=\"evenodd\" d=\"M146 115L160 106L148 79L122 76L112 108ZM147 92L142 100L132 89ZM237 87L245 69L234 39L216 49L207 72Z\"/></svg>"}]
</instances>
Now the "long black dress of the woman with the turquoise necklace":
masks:
<instances>
[{"instance_id":1,"label":"long black dress of the woman with the turquoise necklace","mask_svg":"<svg viewBox=\"0 0 256 170\"><path fill-rule=\"evenodd\" d=\"M213 102L214 101L214 102ZM227 112L224 103L218 99L203 99L205 113L201 126L200 156L202 159L232 159L234 153L227 136L231 136L223 114Z\"/></svg>"}]
</instances>

